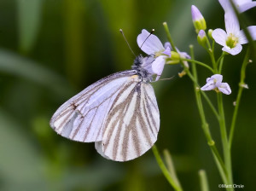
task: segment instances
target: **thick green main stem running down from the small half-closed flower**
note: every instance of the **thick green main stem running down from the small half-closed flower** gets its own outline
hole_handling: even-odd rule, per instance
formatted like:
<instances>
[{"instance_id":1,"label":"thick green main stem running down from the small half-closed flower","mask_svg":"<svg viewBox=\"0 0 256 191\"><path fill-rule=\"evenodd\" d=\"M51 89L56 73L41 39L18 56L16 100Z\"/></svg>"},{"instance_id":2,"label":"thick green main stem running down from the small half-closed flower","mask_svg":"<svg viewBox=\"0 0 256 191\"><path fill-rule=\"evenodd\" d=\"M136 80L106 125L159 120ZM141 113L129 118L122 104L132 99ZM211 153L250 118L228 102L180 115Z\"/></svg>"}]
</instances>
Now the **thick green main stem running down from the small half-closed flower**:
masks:
<instances>
[{"instance_id":1,"label":"thick green main stem running down from the small half-closed flower","mask_svg":"<svg viewBox=\"0 0 256 191\"><path fill-rule=\"evenodd\" d=\"M233 184L232 178L232 165L231 165L231 152L230 152L230 145L227 136L226 124L225 124L225 117L224 117L224 107L223 107L223 99L222 93L217 94L218 97L218 113L219 113L219 127L220 127L220 135L221 141L223 145L223 152L224 152L224 164L227 170L227 180L229 184ZM234 190L233 188L229 188L228 190Z\"/></svg>"}]
</instances>

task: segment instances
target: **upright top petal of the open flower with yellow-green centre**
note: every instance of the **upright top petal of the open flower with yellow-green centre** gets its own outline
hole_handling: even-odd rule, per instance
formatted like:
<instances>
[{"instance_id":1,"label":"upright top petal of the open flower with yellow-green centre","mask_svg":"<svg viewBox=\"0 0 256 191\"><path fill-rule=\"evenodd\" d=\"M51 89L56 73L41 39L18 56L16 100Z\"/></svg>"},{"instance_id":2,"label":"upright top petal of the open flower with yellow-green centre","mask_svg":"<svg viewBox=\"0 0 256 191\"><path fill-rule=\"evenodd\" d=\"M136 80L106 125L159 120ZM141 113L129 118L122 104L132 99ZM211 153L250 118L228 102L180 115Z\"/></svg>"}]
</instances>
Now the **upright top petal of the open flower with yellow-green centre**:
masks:
<instances>
[{"instance_id":1,"label":"upright top petal of the open flower with yellow-green centre","mask_svg":"<svg viewBox=\"0 0 256 191\"><path fill-rule=\"evenodd\" d=\"M236 18L236 13L234 11L229 11L225 13L224 17L227 34L229 35L232 33L233 35L238 36L240 32L240 25L239 20Z\"/></svg>"}]
</instances>

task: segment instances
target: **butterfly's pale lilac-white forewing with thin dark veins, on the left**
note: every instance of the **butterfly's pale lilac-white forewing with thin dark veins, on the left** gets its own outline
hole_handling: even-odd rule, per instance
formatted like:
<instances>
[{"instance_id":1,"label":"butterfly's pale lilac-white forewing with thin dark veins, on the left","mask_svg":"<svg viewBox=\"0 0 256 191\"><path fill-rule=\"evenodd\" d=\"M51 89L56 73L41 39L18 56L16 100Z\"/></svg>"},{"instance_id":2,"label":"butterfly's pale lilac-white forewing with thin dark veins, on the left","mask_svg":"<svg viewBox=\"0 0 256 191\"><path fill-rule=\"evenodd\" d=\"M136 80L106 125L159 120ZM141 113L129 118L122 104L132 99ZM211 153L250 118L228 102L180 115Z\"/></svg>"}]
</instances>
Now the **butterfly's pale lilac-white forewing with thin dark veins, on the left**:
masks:
<instances>
[{"instance_id":1,"label":"butterfly's pale lilac-white forewing with thin dark veins, on the left","mask_svg":"<svg viewBox=\"0 0 256 191\"><path fill-rule=\"evenodd\" d=\"M91 84L61 105L50 120L50 126L74 141L102 141L113 101L136 73L135 70L117 72Z\"/></svg>"}]
</instances>

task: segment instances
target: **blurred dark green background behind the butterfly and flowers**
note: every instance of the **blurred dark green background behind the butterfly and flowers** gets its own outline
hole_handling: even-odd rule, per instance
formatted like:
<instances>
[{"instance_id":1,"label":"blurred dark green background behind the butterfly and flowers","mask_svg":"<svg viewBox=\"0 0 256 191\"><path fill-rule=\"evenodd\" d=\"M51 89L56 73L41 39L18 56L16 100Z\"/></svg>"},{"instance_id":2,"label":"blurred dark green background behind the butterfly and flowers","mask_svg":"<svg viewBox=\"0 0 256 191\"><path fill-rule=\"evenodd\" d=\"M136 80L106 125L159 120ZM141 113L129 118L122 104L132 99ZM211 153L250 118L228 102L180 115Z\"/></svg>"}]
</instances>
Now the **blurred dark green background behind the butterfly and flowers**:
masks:
<instances>
[{"instance_id":1,"label":"blurred dark green background behind the butterfly and flowers","mask_svg":"<svg viewBox=\"0 0 256 191\"><path fill-rule=\"evenodd\" d=\"M195 44L197 60L210 62L196 42L190 6L204 14L208 28L224 28L224 11L211 0L2 0L0 1L0 189L1 190L172 190L151 150L125 163L103 159L94 143L58 136L49 119L68 98L110 73L129 69L137 55L136 38L143 28L162 42L162 22L170 26L178 49ZM256 25L256 9L245 13ZM216 45L220 54L220 47ZM224 82L232 89L224 96L227 124L236 99L242 56L228 55ZM198 171L207 171L211 190L218 175L195 105L189 78L178 78L180 66L166 66L153 83L160 107L160 151L168 148L184 190L199 190ZM198 67L201 85L210 75ZM234 182L255 189L256 66L247 67L241 108L232 148ZM213 100L213 91L207 92ZM206 107L212 135L221 150L218 124Z\"/></svg>"}]
</instances>

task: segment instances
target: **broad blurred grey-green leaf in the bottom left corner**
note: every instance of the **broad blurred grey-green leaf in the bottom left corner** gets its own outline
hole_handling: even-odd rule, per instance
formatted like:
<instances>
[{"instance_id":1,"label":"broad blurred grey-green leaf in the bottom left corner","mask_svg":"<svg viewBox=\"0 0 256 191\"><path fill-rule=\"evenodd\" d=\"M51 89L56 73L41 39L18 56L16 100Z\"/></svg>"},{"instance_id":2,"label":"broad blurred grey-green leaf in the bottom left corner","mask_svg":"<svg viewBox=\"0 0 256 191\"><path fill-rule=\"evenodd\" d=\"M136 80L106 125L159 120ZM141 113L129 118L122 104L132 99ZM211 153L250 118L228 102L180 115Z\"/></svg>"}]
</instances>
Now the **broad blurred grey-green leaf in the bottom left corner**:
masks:
<instances>
[{"instance_id":1,"label":"broad blurred grey-green leaf in the bottom left corner","mask_svg":"<svg viewBox=\"0 0 256 191\"><path fill-rule=\"evenodd\" d=\"M7 190L29 188L43 175L41 155L22 129L22 125L0 109L0 173Z\"/></svg>"}]
</instances>

